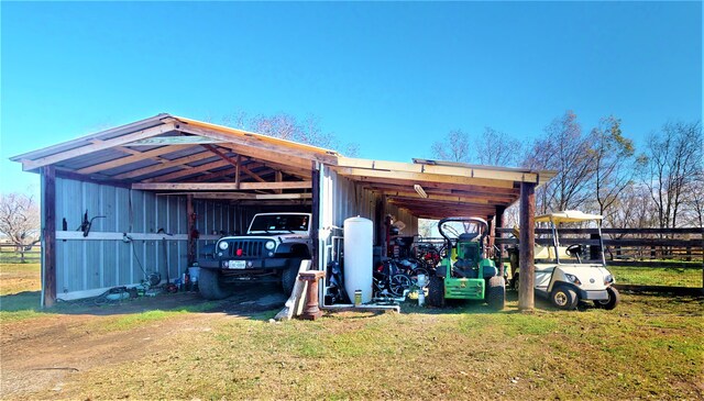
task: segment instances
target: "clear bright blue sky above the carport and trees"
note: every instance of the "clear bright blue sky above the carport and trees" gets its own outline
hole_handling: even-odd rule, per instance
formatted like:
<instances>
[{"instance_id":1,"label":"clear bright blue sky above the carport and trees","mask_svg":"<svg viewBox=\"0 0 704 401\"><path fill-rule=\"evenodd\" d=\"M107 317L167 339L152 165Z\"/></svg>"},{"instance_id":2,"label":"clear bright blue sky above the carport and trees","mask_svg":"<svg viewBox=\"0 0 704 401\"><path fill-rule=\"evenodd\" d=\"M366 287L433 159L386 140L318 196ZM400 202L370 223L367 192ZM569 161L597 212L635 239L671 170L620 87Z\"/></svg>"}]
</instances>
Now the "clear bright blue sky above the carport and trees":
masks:
<instances>
[{"instance_id":1,"label":"clear bright blue sky above the carport and trees","mask_svg":"<svg viewBox=\"0 0 704 401\"><path fill-rule=\"evenodd\" d=\"M360 157L432 157L449 131L529 141L565 110L641 143L701 120L701 2L1 2L8 157L168 112L319 118Z\"/></svg>"}]
</instances>

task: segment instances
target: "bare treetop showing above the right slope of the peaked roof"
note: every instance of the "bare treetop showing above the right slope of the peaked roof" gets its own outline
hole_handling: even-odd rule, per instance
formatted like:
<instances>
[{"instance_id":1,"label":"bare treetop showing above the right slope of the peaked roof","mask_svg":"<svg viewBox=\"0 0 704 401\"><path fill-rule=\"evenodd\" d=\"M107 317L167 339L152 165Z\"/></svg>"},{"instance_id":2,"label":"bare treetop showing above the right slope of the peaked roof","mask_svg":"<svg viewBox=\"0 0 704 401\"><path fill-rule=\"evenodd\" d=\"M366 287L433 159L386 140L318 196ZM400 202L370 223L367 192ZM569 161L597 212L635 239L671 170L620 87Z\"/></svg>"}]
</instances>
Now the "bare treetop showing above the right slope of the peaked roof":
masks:
<instances>
[{"instance_id":1,"label":"bare treetop showing above the right slope of the peaked roof","mask_svg":"<svg viewBox=\"0 0 704 401\"><path fill-rule=\"evenodd\" d=\"M355 157L360 149L360 145L356 143L341 144L333 133L323 132L320 127L320 120L316 116L308 116L300 121L296 116L286 113L249 116L246 113L239 111L223 116L221 123L240 130L328 149L343 147L344 155L350 157Z\"/></svg>"}]
</instances>

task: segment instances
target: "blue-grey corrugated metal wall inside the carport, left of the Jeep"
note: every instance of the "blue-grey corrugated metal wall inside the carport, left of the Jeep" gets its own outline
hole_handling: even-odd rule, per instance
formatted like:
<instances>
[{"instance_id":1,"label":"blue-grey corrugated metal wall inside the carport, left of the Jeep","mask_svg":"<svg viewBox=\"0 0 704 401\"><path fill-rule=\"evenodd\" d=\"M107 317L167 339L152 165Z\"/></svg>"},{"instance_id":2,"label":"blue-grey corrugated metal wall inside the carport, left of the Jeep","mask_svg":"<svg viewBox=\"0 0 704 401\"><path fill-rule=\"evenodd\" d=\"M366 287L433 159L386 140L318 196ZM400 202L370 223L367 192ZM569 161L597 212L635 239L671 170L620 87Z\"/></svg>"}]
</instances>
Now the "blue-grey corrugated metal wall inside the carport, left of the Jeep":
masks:
<instances>
[{"instance_id":1,"label":"blue-grey corrugated metal wall inside the carport, left of the Jeep","mask_svg":"<svg viewBox=\"0 0 704 401\"><path fill-rule=\"evenodd\" d=\"M146 274L163 279L178 277L187 268L186 198L156 197L154 193L106 185L56 179L56 227L76 231L88 211L94 220L91 233L156 234L160 229L174 234L162 240L57 240L57 296L114 286L139 283ZM240 226L235 208L217 201L194 201L196 229L201 236L198 248L212 243L221 231ZM246 224L246 223L243 223ZM216 233L216 235L212 235ZM165 247L165 249L164 249Z\"/></svg>"}]
</instances>

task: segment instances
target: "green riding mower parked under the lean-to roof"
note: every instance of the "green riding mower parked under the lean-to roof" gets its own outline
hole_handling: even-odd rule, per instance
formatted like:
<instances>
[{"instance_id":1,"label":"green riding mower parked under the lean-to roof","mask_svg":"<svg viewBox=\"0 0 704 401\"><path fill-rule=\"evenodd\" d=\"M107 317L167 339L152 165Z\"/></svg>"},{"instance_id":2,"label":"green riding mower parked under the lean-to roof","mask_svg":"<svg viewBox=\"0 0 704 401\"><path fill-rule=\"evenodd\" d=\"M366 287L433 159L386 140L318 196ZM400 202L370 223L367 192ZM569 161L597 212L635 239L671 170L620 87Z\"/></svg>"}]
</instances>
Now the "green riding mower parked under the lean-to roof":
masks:
<instances>
[{"instance_id":1,"label":"green riding mower parked under the lean-to roof","mask_svg":"<svg viewBox=\"0 0 704 401\"><path fill-rule=\"evenodd\" d=\"M444 307L446 299L485 301L502 310L506 287L498 269L485 254L486 221L479 218L446 218L438 223L446 241L446 255L430 277L428 303Z\"/></svg>"}]
</instances>

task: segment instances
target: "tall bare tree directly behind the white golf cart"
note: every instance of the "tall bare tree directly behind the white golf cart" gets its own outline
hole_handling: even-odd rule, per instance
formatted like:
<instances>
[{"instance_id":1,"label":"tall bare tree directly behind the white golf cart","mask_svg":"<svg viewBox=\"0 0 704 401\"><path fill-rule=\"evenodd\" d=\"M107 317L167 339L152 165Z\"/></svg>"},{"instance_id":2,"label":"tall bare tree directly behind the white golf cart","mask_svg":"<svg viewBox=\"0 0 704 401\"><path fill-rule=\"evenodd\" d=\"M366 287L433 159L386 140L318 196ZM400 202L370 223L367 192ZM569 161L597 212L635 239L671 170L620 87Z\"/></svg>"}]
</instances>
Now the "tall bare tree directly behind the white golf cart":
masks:
<instances>
[{"instance_id":1,"label":"tall bare tree directly behind the white golf cart","mask_svg":"<svg viewBox=\"0 0 704 401\"><path fill-rule=\"evenodd\" d=\"M556 170L558 175L536 193L536 209L579 209L593 194L588 191L595 171L593 135L583 135L576 114L566 111L544 129L546 135L534 142L522 165L531 169Z\"/></svg>"}]
</instances>

